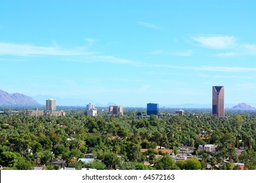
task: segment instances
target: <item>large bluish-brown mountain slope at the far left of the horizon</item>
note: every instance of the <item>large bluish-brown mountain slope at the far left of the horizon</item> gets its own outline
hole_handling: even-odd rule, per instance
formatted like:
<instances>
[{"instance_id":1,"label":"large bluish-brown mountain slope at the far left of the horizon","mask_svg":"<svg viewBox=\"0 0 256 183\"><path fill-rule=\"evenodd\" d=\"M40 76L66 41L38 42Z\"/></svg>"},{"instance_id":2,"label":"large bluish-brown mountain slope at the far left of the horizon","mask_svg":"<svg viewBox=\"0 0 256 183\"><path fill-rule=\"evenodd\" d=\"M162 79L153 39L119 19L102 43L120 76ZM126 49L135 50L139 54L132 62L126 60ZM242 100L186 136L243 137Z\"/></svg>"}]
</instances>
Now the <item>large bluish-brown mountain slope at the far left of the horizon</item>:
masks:
<instances>
[{"instance_id":1,"label":"large bluish-brown mountain slope at the far left of the horizon","mask_svg":"<svg viewBox=\"0 0 256 183\"><path fill-rule=\"evenodd\" d=\"M40 104L37 103L32 97L27 95L23 95L20 93L7 93L3 90L0 90L0 105L2 106L39 106Z\"/></svg>"}]
</instances>

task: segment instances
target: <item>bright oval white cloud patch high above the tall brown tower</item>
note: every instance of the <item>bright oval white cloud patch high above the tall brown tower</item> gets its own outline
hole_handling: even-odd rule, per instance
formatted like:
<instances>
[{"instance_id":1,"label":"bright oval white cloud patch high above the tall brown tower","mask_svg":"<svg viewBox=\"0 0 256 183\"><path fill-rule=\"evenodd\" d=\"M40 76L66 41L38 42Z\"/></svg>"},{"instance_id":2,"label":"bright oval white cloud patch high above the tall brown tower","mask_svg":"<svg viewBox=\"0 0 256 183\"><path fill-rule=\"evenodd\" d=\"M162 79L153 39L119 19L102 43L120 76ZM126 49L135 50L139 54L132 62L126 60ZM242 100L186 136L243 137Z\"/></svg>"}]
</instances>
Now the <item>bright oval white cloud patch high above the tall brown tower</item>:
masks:
<instances>
[{"instance_id":1,"label":"bright oval white cloud patch high above the tall brown tower","mask_svg":"<svg viewBox=\"0 0 256 183\"><path fill-rule=\"evenodd\" d=\"M192 37L196 42L202 46L209 48L230 48L236 44L236 37L234 36L207 36L207 37Z\"/></svg>"}]
</instances>

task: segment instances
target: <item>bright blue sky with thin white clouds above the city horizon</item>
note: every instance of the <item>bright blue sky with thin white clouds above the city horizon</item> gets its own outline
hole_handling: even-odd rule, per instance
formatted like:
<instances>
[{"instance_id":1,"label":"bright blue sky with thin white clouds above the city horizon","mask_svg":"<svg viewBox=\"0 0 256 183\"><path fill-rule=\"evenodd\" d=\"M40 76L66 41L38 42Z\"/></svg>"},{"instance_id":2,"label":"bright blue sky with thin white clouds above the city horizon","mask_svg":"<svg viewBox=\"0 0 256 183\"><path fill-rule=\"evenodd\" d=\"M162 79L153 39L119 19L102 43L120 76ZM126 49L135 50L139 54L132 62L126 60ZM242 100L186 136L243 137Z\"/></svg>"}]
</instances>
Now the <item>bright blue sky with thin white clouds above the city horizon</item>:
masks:
<instances>
[{"instance_id":1,"label":"bright blue sky with thin white clouds above the city horizon","mask_svg":"<svg viewBox=\"0 0 256 183\"><path fill-rule=\"evenodd\" d=\"M1 0L0 89L145 107L211 103L220 85L225 103L256 104L255 9L249 0Z\"/></svg>"}]
</instances>

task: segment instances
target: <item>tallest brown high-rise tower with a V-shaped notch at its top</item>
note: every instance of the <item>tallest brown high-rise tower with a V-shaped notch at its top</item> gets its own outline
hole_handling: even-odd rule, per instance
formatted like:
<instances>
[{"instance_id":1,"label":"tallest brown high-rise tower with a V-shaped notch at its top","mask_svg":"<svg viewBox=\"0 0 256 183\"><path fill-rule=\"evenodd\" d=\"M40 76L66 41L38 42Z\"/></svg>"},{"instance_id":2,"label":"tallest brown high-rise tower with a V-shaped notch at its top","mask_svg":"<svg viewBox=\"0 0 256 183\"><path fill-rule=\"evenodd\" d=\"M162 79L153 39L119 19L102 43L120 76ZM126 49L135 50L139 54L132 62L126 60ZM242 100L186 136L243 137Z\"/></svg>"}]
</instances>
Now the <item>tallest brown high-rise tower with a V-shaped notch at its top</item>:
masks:
<instances>
[{"instance_id":1,"label":"tallest brown high-rise tower with a V-shaped notch at its top","mask_svg":"<svg viewBox=\"0 0 256 183\"><path fill-rule=\"evenodd\" d=\"M213 116L223 118L224 114L224 86L213 86Z\"/></svg>"}]
</instances>

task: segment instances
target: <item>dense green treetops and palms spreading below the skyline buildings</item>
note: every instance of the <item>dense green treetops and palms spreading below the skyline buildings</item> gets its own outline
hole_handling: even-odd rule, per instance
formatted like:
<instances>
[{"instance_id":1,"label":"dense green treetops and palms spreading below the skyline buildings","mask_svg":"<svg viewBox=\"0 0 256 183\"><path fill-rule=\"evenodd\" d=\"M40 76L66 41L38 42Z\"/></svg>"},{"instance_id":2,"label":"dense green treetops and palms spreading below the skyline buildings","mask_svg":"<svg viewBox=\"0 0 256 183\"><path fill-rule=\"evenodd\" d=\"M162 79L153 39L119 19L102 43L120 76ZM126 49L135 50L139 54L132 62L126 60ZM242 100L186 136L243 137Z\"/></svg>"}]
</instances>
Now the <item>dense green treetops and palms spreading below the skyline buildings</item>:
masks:
<instances>
[{"instance_id":1,"label":"dense green treetops and palms spreading below the skyline buildings","mask_svg":"<svg viewBox=\"0 0 256 183\"><path fill-rule=\"evenodd\" d=\"M22 109L16 111L0 115L0 165L13 169L30 169L36 158L47 169L54 169L53 158L67 159L73 167L98 169L203 169L202 163L228 158L230 163L240 161L255 169L255 112L230 111L227 118L215 118L207 110L187 110L184 116L167 115L174 110L165 110L165 116L145 118L142 108L126 110L124 116L101 111L96 117L86 116L81 108L60 117L26 116ZM196 150L200 144L216 144L219 153L211 158L202 154L205 161L200 165L193 159L176 165L169 154L154 157L156 146L177 150L181 144L194 147L194 154L200 153ZM152 152L141 153L141 148ZM245 149L239 158L236 148ZM72 161L84 154L98 160L88 165ZM143 165L148 158L154 167Z\"/></svg>"}]
</instances>

